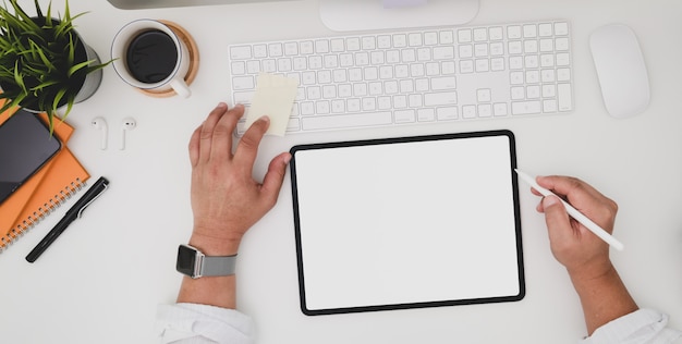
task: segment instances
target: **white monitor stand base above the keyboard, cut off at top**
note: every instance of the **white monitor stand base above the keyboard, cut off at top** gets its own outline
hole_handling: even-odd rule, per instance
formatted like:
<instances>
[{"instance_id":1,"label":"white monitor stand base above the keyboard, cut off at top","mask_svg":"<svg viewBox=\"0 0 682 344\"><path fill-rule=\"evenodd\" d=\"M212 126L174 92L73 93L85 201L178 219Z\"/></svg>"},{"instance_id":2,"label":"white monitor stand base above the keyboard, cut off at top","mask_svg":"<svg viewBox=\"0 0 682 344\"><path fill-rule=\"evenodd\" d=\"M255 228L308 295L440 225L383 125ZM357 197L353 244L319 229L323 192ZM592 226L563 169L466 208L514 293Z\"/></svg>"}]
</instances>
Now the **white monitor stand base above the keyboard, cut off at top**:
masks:
<instances>
[{"instance_id":1,"label":"white monitor stand base above the keyboard, cut off at top","mask_svg":"<svg viewBox=\"0 0 682 344\"><path fill-rule=\"evenodd\" d=\"M382 0L319 0L319 13L322 23L337 32L453 26L472 21L478 1L428 0L387 9Z\"/></svg>"}]
</instances>

